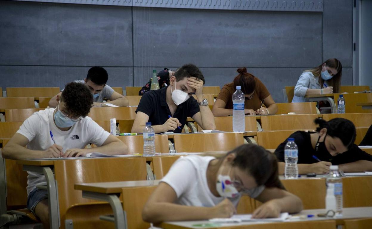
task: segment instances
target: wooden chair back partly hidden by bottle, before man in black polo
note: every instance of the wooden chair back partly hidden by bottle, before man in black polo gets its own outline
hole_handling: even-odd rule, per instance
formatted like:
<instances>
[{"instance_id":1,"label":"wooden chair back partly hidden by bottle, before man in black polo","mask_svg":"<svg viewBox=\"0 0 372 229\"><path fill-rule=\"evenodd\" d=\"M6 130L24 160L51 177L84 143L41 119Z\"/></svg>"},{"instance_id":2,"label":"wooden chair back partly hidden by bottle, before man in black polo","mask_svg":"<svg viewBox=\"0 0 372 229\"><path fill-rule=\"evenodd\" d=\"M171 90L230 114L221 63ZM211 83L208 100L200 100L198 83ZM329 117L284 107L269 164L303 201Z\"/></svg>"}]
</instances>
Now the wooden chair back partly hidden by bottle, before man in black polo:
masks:
<instances>
[{"instance_id":1,"label":"wooden chair back partly hidden by bottle, before man in black polo","mask_svg":"<svg viewBox=\"0 0 372 229\"><path fill-rule=\"evenodd\" d=\"M143 136L117 136L122 142L128 146L129 154L143 153ZM155 152L169 153L168 136L155 135Z\"/></svg>"}]
</instances>

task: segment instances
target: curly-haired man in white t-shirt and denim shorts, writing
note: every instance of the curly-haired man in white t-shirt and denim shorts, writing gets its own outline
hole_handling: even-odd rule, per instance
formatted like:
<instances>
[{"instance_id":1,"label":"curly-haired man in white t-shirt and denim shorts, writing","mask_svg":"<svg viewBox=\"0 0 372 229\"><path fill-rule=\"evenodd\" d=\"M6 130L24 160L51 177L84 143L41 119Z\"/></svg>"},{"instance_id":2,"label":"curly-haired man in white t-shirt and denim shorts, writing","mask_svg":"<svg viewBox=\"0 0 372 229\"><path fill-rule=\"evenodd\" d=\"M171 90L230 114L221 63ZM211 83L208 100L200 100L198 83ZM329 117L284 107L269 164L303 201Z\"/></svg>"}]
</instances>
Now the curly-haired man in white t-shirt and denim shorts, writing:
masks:
<instances>
[{"instance_id":1,"label":"curly-haired man in white t-shirt and denim shorts, writing","mask_svg":"<svg viewBox=\"0 0 372 229\"><path fill-rule=\"evenodd\" d=\"M57 108L35 112L23 122L4 147L4 158L79 157L93 151L128 153L128 147L122 141L87 117L93 97L85 85L76 82L67 84L61 97L57 96L57 101ZM84 149L90 143L98 147ZM27 208L39 217L44 228L49 228L47 191L36 189L37 185L46 184L45 177L32 172L28 174Z\"/></svg>"}]
</instances>

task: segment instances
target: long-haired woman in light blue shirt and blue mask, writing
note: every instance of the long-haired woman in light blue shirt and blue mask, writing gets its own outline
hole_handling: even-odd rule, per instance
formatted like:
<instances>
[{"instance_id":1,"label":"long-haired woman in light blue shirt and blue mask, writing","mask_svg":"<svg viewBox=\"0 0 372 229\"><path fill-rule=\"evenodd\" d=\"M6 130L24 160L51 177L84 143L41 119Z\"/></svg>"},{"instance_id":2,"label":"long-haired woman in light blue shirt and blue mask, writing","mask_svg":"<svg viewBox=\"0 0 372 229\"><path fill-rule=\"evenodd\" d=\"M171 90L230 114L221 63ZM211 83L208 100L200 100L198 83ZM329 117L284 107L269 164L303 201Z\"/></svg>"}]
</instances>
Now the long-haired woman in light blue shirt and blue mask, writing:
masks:
<instances>
[{"instance_id":1,"label":"long-haired woman in light blue shirt and blue mask, writing","mask_svg":"<svg viewBox=\"0 0 372 229\"><path fill-rule=\"evenodd\" d=\"M305 95L339 93L341 75L342 65L336 58L305 70L297 81L292 102L308 102Z\"/></svg>"}]
</instances>

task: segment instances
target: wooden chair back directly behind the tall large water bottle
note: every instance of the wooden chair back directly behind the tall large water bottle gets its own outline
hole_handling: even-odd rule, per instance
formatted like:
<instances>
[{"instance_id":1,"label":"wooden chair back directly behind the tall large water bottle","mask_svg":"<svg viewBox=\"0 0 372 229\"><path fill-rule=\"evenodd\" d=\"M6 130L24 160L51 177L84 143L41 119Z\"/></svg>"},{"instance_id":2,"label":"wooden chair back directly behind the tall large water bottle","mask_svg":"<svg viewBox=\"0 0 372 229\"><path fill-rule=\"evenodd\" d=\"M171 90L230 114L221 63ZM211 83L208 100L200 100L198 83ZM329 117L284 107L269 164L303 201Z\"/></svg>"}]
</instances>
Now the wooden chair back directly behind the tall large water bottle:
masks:
<instances>
[{"instance_id":1,"label":"wooden chair back directly behind the tall large water bottle","mask_svg":"<svg viewBox=\"0 0 372 229\"><path fill-rule=\"evenodd\" d=\"M257 131L257 120L254 116L246 116L246 129L245 131ZM227 117L214 117L216 124L216 130L232 132L232 116ZM200 132L203 128L198 124L198 131Z\"/></svg>"}]
</instances>

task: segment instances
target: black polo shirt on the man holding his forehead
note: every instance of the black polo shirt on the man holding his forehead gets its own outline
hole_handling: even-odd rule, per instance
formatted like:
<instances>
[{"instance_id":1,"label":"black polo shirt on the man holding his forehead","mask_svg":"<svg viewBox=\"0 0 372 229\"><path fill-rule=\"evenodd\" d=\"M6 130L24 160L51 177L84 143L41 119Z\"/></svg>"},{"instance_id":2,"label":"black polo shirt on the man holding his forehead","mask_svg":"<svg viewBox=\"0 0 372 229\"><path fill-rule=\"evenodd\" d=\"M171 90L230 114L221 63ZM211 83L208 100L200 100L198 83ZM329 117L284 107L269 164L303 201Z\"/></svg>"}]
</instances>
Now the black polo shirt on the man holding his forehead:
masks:
<instances>
[{"instance_id":1,"label":"black polo shirt on the man holding his forehead","mask_svg":"<svg viewBox=\"0 0 372 229\"><path fill-rule=\"evenodd\" d=\"M149 116L148 121L151 125L163 125L168 120L168 115L171 115L167 101L166 91L168 86L162 89L148 91L142 95L140 104L138 104L136 113L138 111L144 112ZM177 118L182 124L181 129L170 130L174 133L181 133L185 125L187 117L193 117L200 111L198 101L190 96L185 102L177 106L173 118Z\"/></svg>"}]
</instances>

